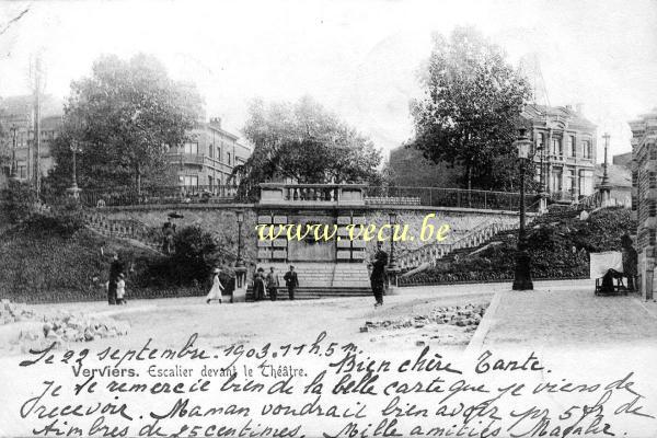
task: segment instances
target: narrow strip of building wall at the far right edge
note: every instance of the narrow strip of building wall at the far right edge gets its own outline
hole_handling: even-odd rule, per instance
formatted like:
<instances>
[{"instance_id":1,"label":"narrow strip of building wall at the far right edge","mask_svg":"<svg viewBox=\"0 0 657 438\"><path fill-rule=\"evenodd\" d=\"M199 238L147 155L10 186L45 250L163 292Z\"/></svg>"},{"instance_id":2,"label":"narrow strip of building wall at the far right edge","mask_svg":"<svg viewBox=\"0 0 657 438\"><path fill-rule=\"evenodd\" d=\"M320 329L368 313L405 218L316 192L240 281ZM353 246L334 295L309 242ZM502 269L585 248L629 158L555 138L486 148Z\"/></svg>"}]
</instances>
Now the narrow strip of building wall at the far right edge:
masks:
<instances>
[{"instance_id":1,"label":"narrow strip of building wall at the far right edge","mask_svg":"<svg viewBox=\"0 0 657 438\"><path fill-rule=\"evenodd\" d=\"M641 292L653 299L657 238L657 108L630 122L632 129L632 210Z\"/></svg>"}]
</instances>

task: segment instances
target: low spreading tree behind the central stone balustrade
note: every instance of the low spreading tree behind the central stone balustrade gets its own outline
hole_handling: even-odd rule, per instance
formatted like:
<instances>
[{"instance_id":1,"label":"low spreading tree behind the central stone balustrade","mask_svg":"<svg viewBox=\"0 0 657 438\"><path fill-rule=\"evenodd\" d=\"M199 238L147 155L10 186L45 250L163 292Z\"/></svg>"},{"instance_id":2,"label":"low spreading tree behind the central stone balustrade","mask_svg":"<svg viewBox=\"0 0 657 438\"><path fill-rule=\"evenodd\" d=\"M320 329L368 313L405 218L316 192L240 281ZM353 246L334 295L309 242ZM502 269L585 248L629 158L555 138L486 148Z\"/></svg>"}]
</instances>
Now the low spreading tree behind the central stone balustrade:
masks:
<instances>
[{"instance_id":1,"label":"low spreading tree behind the central stone balustrade","mask_svg":"<svg viewBox=\"0 0 657 438\"><path fill-rule=\"evenodd\" d=\"M369 182L378 177L381 153L356 129L310 97L295 104L253 101L244 127L255 146L234 170L240 189L253 195L262 182Z\"/></svg>"}]
</instances>

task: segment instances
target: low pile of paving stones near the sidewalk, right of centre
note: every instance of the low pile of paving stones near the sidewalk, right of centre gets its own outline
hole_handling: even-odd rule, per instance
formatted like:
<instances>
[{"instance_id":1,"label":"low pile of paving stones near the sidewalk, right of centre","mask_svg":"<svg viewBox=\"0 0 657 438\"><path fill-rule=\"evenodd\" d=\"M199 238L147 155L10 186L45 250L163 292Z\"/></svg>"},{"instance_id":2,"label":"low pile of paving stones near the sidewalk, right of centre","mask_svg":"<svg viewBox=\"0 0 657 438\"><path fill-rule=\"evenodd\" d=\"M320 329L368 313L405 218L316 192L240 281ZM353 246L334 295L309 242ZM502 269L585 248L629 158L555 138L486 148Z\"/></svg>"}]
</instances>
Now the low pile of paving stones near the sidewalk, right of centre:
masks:
<instances>
[{"instance_id":1,"label":"low pile of paving stones near the sidewalk, right of centre","mask_svg":"<svg viewBox=\"0 0 657 438\"><path fill-rule=\"evenodd\" d=\"M385 321L366 321L360 332L370 332L377 328L422 328L428 324L451 324L464 327L466 332L474 332L484 316L488 304L452 306L449 308L438 307L428 315L416 315Z\"/></svg>"}]
</instances>

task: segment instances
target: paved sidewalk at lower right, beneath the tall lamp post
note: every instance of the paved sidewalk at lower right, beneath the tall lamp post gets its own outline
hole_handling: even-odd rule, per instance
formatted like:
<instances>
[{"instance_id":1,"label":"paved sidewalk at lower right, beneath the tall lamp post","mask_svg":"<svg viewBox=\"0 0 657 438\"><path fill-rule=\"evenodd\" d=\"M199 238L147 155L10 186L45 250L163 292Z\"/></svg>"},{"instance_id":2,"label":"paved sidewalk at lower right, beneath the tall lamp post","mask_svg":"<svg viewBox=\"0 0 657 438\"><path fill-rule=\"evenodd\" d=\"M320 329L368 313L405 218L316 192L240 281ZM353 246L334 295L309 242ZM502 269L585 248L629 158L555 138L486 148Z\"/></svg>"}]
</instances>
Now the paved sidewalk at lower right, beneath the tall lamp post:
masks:
<instances>
[{"instance_id":1,"label":"paved sidewalk at lower right, beneath the tall lamp post","mask_svg":"<svg viewBox=\"0 0 657 438\"><path fill-rule=\"evenodd\" d=\"M596 297L592 281L533 291L498 291L483 345L528 347L637 345L657 342L657 303L638 297ZM482 326L481 328L485 328Z\"/></svg>"}]
</instances>

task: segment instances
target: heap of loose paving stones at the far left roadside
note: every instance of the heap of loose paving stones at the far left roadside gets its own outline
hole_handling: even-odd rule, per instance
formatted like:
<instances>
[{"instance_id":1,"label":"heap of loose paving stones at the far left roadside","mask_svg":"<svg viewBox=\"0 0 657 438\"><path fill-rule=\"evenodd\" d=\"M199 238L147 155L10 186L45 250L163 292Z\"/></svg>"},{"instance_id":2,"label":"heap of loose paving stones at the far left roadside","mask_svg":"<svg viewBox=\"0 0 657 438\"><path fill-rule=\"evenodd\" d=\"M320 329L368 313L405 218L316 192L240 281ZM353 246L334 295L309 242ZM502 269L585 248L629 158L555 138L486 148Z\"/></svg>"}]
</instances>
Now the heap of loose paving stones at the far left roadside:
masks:
<instances>
[{"instance_id":1,"label":"heap of loose paving stones at the far left roadside","mask_svg":"<svg viewBox=\"0 0 657 438\"><path fill-rule=\"evenodd\" d=\"M123 336L128 333L128 323L110 318L60 312L43 316L43 321L41 330L21 332L20 341L45 341L47 344L61 345Z\"/></svg>"}]
</instances>

